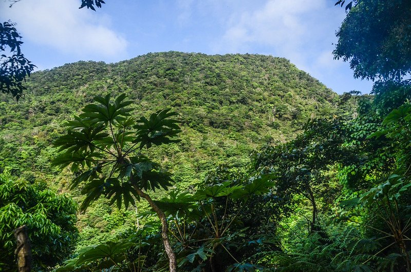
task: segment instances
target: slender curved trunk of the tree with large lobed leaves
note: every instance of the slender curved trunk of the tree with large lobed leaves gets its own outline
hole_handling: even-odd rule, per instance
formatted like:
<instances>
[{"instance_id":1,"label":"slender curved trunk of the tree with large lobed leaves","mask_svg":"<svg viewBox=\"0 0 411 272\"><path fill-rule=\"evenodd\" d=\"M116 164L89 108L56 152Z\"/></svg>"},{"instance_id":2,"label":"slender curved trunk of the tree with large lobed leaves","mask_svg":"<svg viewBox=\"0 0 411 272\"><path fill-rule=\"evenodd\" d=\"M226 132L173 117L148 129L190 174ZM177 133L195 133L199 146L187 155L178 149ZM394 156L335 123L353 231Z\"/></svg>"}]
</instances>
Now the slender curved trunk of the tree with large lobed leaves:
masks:
<instances>
[{"instance_id":1,"label":"slender curved trunk of the tree with large lobed leaves","mask_svg":"<svg viewBox=\"0 0 411 272\"><path fill-rule=\"evenodd\" d=\"M167 224L167 219L165 218L164 212L154 203L152 198L148 196L145 192L140 190L136 185L134 185L134 188L136 189L138 195L142 198L145 198L147 202L150 204L150 206L154 209L154 211L157 213L158 218L161 221L161 237L163 239L163 244L164 244L164 249L169 257L169 262L170 262L170 272L177 272L177 261L176 261L176 255L174 254L173 248L171 247L170 240L169 240L169 225Z\"/></svg>"}]
</instances>

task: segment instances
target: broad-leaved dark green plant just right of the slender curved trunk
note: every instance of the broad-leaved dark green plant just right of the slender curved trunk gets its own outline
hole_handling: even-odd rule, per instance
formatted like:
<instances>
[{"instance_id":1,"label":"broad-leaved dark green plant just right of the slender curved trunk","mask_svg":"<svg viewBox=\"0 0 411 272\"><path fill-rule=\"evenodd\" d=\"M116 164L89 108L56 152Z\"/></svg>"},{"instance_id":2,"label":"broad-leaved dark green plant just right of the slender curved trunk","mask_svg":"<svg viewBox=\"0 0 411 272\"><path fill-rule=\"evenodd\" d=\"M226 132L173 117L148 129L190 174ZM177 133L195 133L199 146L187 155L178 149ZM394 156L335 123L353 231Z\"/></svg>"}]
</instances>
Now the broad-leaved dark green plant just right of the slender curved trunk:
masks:
<instances>
[{"instance_id":1,"label":"broad-leaved dark green plant just right of the slender curved trunk","mask_svg":"<svg viewBox=\"0 0 411 272\"><path fill-rule=\"evenodd\" d=\"M217 271L219 268L213 261L217 256L228 254L231 261L237 262L234 255L238 251L252 248L253 242L240 242L244 241L249 229L244 226L245 210L258 196L276 194L274 178L272 174L262 174L241 182L223 181L200 187L192 195L173 191L169 197L156 201L172 222L169 231L178 241L181 271L193 265L200 271L208 263L211 271ZM258 240L255 243L265 242L261 237ZM239 268L241 265L253 267L237 263L230 271L244 271Z\"/></svg>"}]
</instances>

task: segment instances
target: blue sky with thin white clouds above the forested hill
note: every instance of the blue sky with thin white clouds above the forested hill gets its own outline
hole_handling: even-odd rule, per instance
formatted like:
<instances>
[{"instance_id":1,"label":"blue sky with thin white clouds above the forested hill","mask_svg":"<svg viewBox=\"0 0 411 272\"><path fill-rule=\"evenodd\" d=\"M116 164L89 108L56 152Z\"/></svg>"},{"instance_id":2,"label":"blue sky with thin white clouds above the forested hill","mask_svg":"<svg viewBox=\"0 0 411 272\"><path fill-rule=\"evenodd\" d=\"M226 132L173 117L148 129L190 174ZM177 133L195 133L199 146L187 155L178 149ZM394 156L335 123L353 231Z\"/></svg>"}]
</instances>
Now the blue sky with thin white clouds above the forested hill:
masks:
<instances>
[{"instance_id":1,"label":"blue sky with thin white clouds above the forested hill","mask_svg":"<svg viewBox=\"0 0 411 272\"><path fill-rule=\"evenodd\" d=\"M17 23L26 57L39 69L80 60L107 63L148 52L257 53L286 57L338 93L368 93L348 63L333 60L344 20L335 0L22 0L0 17Z\"/></svg>"}]
</instances>

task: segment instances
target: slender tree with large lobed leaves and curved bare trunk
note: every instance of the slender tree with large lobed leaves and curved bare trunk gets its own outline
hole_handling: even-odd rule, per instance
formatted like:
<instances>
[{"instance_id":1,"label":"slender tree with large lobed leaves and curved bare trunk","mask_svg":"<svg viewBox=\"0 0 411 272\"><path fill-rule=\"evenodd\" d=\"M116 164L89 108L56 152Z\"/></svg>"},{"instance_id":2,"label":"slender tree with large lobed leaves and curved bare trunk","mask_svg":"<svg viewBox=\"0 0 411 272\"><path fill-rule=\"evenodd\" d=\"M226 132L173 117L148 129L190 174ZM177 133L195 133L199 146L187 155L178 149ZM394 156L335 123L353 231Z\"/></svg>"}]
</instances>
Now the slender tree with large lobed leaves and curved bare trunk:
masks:
<instances>
[{"instance_id":1,"label":"slender tree with large lobed leaves and curved bare trunk","mask_svg":"<svg viewBox=\"0 0 411 272\"><path fill-rule=\"evenodd\" d=\"M170 269L175 269L175 256L167 238L167 222L164 214L154 204L152 198L143 190L155 191L171 186L171 174L161 171L159 165L145 157L141 150L153 144L178 143L172 139L181 130L180 121L171 119L177 115L169 109L153 113L150 119L141 118L135 124L130 118L132 111L125 101L126 95L119 95L114 102L110 94L97 96L97 104L89 104L83 113L66 124L69 131L54 142L55 146L65 152L53 161L53 165L66 167L71 164L73 172L79 176L73 180L72 187L84 183L81 193L86 195L81 205L85 210L101 196L116 202L121 209L129 204L135 205L135 199L147 200L156 211L162 223L162 236ZM132 130L134 128L134 130Z\"/></svg>"}]
</instances>

